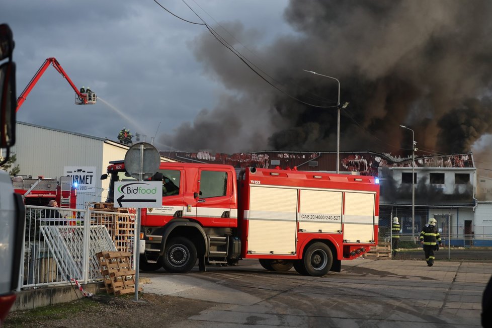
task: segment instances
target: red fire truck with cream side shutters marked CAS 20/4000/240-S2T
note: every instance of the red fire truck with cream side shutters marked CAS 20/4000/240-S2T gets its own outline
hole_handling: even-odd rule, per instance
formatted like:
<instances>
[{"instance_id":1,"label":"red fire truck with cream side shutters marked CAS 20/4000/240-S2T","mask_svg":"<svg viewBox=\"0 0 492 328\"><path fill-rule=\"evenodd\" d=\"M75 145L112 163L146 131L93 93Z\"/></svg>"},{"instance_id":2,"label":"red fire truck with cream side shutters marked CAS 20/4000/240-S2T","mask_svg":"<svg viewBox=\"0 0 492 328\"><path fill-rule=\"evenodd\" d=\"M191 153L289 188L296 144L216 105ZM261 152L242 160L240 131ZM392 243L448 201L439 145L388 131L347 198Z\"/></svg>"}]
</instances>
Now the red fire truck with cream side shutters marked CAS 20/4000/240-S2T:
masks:
<instances>
[{"instance_id":1,"label":"red fire truck with cream side shutters marked CAS 20/4000/240-S2T","mask_svg":"<svg viewBox=\"0 0 492 328\"><path fill-rule=\"evenodd\" d=\"M111 162L114 182L132 180ZM106 179L108 175L103 175ZM161 162L162 206L141 210L140 268L190 271L259 259L267 270L323 276L377 244L377 178Z\"/></svg>"}]
</instances>

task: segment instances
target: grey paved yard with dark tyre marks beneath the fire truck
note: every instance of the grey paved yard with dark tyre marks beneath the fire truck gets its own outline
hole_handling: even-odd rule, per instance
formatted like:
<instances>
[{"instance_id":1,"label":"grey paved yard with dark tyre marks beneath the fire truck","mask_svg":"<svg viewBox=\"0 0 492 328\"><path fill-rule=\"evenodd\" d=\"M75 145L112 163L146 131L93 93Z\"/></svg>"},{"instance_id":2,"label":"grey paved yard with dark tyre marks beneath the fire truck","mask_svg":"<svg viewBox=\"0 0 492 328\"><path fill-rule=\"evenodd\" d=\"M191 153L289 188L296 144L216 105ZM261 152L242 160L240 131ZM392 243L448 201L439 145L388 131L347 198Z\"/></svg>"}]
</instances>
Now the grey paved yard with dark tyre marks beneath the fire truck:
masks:
<instances>
[{"instance_id":1,"label":"grey paved yard with dark tyre marks beneath the fire truck","mask_svg":"<svg viewBox=\"0 0 492 328\"><path fill-rule=\"evenodd\" d=\"M257 260L239 263L140 277L150 281L144 293L218 303L175 327L435 328L480 326L481 297L492 274L492 262L479 261L438 260L427 267L423 259L357 259L324 277L269 272Z\"/></svg>"}]
</instances>

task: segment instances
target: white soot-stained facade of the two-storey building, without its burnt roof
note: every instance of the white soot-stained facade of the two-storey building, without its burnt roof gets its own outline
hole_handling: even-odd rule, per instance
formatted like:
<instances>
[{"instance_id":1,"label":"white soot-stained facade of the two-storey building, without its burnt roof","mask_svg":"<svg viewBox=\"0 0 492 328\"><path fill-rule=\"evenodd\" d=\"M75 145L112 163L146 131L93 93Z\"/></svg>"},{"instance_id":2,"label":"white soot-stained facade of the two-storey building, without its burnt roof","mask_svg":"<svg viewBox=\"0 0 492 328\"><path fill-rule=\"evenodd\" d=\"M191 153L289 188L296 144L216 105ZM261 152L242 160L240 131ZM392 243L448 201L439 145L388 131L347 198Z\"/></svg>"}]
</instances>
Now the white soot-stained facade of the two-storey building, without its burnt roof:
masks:
<instances>
[{"instance_id":1,"label":"white soot-stained facade of the two-storey building, without its burnt roof","mask_svg":"<svg viewBox=\"0 0 492 328\"><path fill-rule=\"evenodd\" d=\"M412 171L415 176L412 222ZM437 219L442 238L451 244L469 245L474 234L476 168L474 167L391 167L380 169L380 213L390 211L401 221L402 231L419 235L431 217ZM455 241L453 239L459 239Z\"/></svg>"}]
</instances>

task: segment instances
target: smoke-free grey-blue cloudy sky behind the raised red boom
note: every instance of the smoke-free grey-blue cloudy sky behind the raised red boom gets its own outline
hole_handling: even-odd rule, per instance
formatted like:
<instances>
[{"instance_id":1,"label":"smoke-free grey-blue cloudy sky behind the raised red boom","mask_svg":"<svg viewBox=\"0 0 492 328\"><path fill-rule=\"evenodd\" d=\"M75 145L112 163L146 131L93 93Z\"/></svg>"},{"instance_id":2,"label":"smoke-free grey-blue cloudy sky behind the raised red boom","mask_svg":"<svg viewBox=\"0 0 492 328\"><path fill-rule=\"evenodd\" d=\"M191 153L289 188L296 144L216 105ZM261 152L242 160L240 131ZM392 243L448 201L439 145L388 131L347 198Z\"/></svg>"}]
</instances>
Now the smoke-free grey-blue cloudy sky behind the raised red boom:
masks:
<instances>
[{"instance_id":1,"label":"smoke-free grey-blue cloudy sky behind the raised red boom","mask_svg":"<svg viewBox=\"0 0 492 328\"><path fill-rule=\"evenodd\" d=\"M289 31L285 0L186 2L210 25L240 22L257 31L255 46ZM181 1L159 3L200 22ZM14 32L18 96L44 60L55 57L77 88L90 87L100 98L96 105L75 105L74 92L50 66L20 108L19 121L110 139L126 127L147 134L149 142L159 122L157 135L172 133L213 108L225 89L193 53L206 28L152 0L0 0L0 8L0 22Z\"/></svg>"}]
</instances>

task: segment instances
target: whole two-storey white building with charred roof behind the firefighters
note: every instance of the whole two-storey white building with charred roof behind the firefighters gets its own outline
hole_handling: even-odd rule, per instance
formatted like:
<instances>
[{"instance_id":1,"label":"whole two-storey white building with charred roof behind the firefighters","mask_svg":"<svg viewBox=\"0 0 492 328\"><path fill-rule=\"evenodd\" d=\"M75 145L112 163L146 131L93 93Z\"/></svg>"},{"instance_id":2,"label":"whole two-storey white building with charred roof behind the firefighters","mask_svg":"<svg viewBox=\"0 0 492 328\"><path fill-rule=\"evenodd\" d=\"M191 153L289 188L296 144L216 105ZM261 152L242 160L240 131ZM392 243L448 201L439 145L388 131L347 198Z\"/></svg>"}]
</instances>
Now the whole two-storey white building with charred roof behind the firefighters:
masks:
<instances>
[{"instance_id":1,"label":"whole two-storey white building with charred roof behind the firefighters","mask_svg":"<svg viewBox=\"0 0 492 328\"><path fill-rule=\"evenodd\" d=\"M423 225L434 217L445 244L492 245L492 231L483 226L488 221L481 219L482 216L478 217L479 222L476 218L477 208L481 208L478 213L484 213L489 204L479 204L475 198L477 178L471 153L418 157L414 165L408 159L393 167L379 168L378 175L382 238L388 237L384 235L384 227L390 226L394 216L399 218L401 240L418 239ZM479 235L478 226L483 230Z\"/></svg>"}]
</instances>

